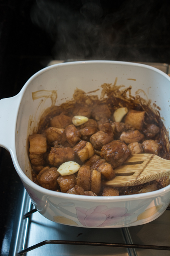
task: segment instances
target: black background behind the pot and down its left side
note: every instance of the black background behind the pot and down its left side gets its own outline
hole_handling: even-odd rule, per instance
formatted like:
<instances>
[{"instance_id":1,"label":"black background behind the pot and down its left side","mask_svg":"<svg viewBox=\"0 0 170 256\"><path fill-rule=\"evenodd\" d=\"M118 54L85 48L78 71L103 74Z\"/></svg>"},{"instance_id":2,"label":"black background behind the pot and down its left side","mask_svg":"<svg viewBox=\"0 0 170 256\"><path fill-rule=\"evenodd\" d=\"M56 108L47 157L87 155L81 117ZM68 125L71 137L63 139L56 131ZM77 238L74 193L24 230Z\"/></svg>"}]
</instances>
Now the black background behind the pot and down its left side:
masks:
<instances>
[{"instance_id":1,"label":"black background behind the pot and down its left side","mask_svg":"<svg viewBox=\"0 0 170 256\"><path fill-rule=\"evenodd\" d=\"M165 0L0 0L0 99L50 60L170 64ZM0 148L0 246L8 255L22 183Z\"/></svg>"}]
</instances>

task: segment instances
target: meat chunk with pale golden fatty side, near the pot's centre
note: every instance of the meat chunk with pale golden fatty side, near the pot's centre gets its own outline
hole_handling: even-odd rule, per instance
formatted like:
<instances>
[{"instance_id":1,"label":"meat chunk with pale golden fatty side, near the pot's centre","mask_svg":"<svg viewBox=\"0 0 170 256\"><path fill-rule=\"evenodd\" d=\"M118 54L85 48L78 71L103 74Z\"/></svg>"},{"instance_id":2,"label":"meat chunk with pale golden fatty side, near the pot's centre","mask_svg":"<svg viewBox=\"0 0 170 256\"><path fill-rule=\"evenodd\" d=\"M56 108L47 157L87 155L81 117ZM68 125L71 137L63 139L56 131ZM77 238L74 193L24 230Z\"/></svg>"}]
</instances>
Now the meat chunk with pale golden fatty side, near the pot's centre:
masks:
<instances>
[{"instance_id":1,"label":"meat chunk with pale golden fatty side, near the pot's centre","mask_svg":"<svg viewBox=\"0 0 170 256\"><path fill-rule=\"evenodd\" d=\"M77 143L73 150L76 153L78 159L80 159L82 162L85 162L87 159L94 155L94 148L92 144L83 140Z\"/></svg>"}]
</instances>

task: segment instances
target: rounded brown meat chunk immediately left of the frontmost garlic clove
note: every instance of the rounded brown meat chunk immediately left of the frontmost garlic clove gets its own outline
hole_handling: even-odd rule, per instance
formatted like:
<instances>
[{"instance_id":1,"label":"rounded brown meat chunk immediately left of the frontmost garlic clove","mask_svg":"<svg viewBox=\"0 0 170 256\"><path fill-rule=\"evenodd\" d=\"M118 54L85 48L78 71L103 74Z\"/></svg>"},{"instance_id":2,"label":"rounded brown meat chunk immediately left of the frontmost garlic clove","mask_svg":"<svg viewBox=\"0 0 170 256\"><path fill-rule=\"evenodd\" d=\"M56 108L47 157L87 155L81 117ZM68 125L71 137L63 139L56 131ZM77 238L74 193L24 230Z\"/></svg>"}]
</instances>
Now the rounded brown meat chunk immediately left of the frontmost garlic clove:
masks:
<instances>
[{"instance_id":1,"label":"rounded brown meat chunk immediately left of the frontmost garlic clove","mask_svg":"<svg viewBox=\"0 0 170 256\"><path fill-rule=\"evenodd\" d=\"M43 188L55 191L58 187L57 178L59 176L60 174L57 172L57 168L46 166L37 175L37 181Z\"/></svg>"}]
</instances>

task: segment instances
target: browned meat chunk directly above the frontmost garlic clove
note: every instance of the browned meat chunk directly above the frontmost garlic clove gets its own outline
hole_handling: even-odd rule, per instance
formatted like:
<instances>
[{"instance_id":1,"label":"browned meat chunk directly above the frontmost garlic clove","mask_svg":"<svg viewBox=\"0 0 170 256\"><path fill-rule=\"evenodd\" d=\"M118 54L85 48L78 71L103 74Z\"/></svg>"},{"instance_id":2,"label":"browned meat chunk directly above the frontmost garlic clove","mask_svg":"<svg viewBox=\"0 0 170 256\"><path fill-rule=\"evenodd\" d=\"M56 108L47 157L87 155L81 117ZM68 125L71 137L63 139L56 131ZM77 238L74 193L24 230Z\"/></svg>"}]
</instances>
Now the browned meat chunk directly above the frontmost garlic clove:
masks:
<instances>
[{"instance_id":1,"label":"browned meat chunk directly above the frontmost garlic clove","mask_svg":"<svg viewBox=\"0 0 170 256\"><path fill-rule=\"evenodd\" d=\"M48 155L50 165L59 166L64 162L73 161L75 153L72 148L51 148Z\"/></svg>"}]
</instances>

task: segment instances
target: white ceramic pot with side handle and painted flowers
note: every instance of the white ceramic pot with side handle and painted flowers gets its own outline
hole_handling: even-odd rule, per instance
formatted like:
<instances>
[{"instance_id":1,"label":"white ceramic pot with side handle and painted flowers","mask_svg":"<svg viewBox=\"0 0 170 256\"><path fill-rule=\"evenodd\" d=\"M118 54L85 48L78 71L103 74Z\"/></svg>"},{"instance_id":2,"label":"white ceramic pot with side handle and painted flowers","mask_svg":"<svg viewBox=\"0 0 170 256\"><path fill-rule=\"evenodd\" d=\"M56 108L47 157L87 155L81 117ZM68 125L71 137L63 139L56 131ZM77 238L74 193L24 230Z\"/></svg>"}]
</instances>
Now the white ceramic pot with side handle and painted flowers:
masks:
<instances>
[{"instance_id":1,"label":"white ceramic pot with side handle and painted flowers","mask_svg":"<svg viewBox=\"0 0 170 256\"><path fill-rule=\"evenodd\" d=\"M31 180L28 135L37 126L43 110L51 106L51 99L55 102L54 90L58 95L56 105L60 105L65 99L72 98L76 88L85 92L100 89L94 93L100 95L100 85L113 84L116 77L117 85L132 86L133 95L142 89L146 93L141 91L142 97L153 103L156 101L164 125L169 129L170 77L143 64L119 61L56 64L33 75L16 96L0 101L0 146L10 152L36 209L51 221L88 228L141 225L158 218L170 203L170 185L143 194L93 197L54 192ZM46 92L41 91L41 96L36 99L35 92L40 90ZM45 93L47 97L44 97Z\"/></svg>"}]
</instances>

